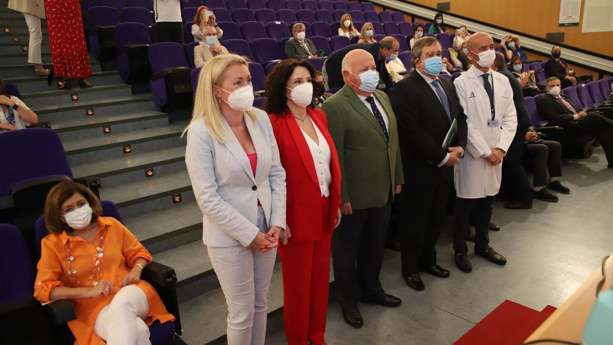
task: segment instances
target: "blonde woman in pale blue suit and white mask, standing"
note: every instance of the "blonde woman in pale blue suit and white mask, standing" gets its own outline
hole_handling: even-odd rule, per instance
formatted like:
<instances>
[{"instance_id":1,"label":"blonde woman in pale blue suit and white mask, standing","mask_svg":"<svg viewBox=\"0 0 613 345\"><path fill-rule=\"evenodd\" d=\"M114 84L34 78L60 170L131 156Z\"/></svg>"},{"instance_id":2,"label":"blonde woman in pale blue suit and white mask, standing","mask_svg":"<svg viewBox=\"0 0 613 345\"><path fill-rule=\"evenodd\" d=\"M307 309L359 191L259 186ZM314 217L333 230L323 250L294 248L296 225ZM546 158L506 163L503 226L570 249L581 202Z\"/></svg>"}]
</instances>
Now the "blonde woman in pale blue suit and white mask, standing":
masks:
<instances>
[{"instance_id":1,"label":"blonde woman in pale blue suit and white mask, standing","mask_svg":"<svg viewBox=\"0 0 613 345\"><path fill-rule=\"evenodd\" d=\"M216 56L200 71L186 128L185 161L204 214L202 241L228 304L230 345L264 344L268 287L286 227L285 171L268 116L252 105L247 61Z\"/></svg>"}]
</instances>

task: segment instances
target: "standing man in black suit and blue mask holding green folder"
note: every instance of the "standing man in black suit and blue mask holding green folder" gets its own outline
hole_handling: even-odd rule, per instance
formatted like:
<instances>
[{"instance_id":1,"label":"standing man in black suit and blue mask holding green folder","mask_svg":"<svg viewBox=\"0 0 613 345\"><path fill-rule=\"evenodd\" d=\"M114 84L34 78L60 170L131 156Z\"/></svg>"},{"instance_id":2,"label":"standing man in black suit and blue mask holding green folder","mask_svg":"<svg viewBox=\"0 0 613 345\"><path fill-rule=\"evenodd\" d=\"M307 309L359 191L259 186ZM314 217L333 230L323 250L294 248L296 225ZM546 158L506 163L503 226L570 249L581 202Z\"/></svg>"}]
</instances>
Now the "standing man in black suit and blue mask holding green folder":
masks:
<instances>
[{"instance_id":1,"label":"standing man in black suit and blue mask holding green folder","mask_svg":"<svg viewBox=\"0 0 613 345\"><path fill-rule=\"evenodd\" d=\"M466 115L454 84L438 78L443 67L442 45L434 37L418 39L411 50L415 69L392 88L390 101L398 119L405 188L398 196L398 228L402 277L421 291L419 271L449 277L436 264L440 220L453 180L453 166L466 147ZM453 120L457 134L449 147L443 142Z\"/></svg>"}]
</instances>

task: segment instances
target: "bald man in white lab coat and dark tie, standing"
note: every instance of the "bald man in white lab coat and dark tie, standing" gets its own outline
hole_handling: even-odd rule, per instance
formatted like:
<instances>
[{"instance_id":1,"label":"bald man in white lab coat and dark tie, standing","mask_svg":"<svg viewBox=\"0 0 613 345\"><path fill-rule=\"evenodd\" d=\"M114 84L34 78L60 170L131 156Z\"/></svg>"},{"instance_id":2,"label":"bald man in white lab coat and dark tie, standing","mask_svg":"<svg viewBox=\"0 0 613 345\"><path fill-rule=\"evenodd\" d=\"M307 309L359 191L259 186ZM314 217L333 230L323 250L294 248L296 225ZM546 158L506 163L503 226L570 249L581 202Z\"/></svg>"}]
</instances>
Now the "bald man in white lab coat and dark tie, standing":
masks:
<instances>
[{"instance_id":1,"label":"bald man in white lab coat and dark tie, standing","mask_svg":"<svg viewBox=\"0 0 613 345\"><path fill-rule=\"evenodd\" d=\"M464 159L455 165L453 225L455 264L466 273L473 270L465 241L471 212L476 230L474 254L497 265L506 264L506 258L489 246L487 233L494 196L500 188L501 163L517 128L509 80L490 69L495 58L492 37L473 34L467 47L473 67L454 81L460 105L468 116L468 143Z\"/></svg>"}]
</instances>

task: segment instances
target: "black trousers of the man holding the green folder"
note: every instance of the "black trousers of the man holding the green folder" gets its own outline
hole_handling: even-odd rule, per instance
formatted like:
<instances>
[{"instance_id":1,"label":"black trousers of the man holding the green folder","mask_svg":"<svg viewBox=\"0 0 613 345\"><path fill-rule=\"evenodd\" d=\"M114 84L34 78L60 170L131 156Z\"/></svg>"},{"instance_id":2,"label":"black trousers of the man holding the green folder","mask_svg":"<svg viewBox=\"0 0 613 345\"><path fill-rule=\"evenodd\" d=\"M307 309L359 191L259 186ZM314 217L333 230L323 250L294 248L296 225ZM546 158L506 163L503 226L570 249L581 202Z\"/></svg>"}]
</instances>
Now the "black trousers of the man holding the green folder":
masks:
<instances>
[{"instance_id":1,"label":"black trousers of the man holding the green folder","mask_svg":"<svg viewBox=\"0 0 613 345\"><path fill-rule=\"evenodd\" d=\"M436 185L404 185L398 195L398 229L402 275L436 265L436 242L449 197L449 181Z\"/></svg>"}]
</instances>

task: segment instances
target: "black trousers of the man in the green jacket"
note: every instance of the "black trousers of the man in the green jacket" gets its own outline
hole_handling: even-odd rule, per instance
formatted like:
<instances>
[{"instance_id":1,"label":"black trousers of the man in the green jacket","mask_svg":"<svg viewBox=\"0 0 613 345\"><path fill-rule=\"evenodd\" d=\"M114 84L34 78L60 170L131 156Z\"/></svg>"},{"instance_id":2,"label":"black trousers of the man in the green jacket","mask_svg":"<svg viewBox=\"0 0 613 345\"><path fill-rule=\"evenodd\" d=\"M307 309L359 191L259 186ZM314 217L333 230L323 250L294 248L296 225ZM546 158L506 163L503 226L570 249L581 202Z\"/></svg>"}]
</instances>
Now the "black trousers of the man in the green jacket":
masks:
<instances>
[{"instance_id":1,"label":"black trousers of the man in the green jacket","mask_svg":"<svg viewBox=\"0 0 613 345\"><path fill-rule=\"evenodd\" d=\"M357 308L362 297L379 298L385 291L379 281L390 202L386 206L354 209L332 233L332 267L337 301Z\"/></svg>"}]
</instances>

